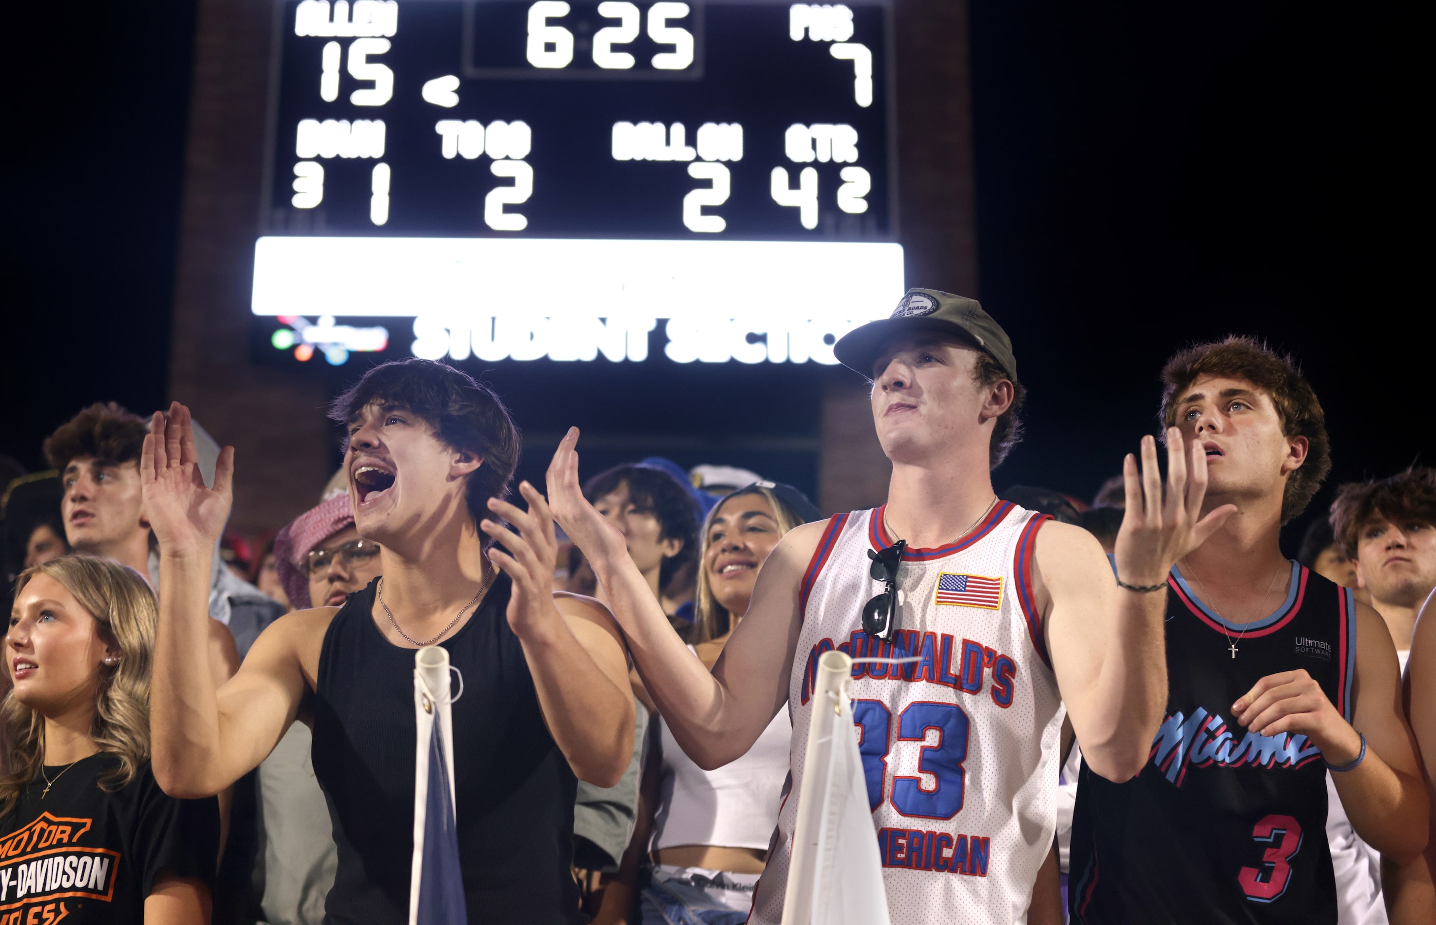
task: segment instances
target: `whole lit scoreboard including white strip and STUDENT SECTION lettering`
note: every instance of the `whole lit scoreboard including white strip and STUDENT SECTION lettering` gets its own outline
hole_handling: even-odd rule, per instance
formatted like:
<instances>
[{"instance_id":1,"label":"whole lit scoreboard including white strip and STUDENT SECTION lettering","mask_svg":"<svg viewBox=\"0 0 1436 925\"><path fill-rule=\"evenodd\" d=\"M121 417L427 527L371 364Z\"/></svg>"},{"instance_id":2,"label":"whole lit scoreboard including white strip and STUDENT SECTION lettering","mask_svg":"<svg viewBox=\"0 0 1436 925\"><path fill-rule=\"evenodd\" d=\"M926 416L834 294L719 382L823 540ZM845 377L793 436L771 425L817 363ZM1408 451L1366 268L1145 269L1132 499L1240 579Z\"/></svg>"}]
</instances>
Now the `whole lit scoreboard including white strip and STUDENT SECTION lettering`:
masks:
<instances>
[{"instance_id":1,"label":"whole lit scoreboard including white strip and STUDENT SECTION lettering","mask_svg":"<svg viewBox=\"0 0 1436 925\"><path fill-rule=\"evenodd\" d=\"M270 349L836 362L903 289L886 1L276 4Z\"/></svg>"}]
</instances>

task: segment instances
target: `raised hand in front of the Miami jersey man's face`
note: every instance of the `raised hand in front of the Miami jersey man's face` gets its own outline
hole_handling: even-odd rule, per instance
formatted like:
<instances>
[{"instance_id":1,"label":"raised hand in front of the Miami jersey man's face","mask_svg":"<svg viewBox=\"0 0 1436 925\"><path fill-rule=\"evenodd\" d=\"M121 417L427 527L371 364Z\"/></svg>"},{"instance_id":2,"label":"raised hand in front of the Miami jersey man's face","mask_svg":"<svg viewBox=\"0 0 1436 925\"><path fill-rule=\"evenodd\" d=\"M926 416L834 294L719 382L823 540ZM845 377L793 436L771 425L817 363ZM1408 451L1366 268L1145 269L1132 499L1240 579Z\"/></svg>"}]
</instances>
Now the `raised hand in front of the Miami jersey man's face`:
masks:
<instances>
[{"instance_id":1,"label":"raised hand in front of the Miami jersey man's face","mask_svg":"<svg viewBox=\"0 0 1436 925\"><path fill-rule=\"evenodd\" d=\"M1236 513L1223 504L1202 517L1206 497L1206 452L1202 444L1182 440L1182 431L1167 428L1167 484L1162 496L1162 471L1152 437L1142 438L1142 471L1132 454L1122 462L1127 488L1127 510L1117 531L1117 577L1127 585L1152 586L1166 582L1167 572L1189 552L1216 533Z\"/></svg>"}]
</instances>

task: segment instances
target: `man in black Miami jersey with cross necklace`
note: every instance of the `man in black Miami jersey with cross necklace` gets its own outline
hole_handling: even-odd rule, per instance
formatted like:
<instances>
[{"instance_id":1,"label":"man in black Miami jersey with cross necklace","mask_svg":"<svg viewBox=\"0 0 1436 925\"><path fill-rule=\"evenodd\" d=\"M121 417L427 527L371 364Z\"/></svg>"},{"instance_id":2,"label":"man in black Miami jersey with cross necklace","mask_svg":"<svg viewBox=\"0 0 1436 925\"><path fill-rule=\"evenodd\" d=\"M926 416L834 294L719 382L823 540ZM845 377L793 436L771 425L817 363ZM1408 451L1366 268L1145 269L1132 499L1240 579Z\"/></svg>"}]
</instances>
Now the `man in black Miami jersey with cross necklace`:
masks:
<instances>
[{"instance_id":1,"label":"man in black Miami jersey with cross necklace","mask_svg":"<svg viewBox=\"0 0 1436 925\"><path fill-rule=\"evenodd\" d=\"M1321 405L1245 338L1162 378L1165 422L1206 450L1203 510L1238 513L1157 590L1169 695L1147 764L1123 784L1083 767L1071 921L1334 924L1327 768L1389 857L1422 850L1427 803L1381 618L1277 541L1330 468Z\"/></svg>"}]
</instances>

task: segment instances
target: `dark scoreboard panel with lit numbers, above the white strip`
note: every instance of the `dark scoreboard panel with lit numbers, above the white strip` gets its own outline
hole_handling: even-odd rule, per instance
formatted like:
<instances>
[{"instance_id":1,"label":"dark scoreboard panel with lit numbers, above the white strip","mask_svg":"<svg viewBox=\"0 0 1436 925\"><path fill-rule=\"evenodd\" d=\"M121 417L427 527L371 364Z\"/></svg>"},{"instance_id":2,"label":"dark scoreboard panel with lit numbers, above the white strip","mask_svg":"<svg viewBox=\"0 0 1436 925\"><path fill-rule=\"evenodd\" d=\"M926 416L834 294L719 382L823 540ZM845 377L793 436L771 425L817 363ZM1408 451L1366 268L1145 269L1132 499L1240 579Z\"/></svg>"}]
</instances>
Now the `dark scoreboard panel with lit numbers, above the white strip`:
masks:
<instances>
[{"instance_id":1,"label":"dark scoreboard panel with lit numbers, above the white strip","mask_svg":"<svg viewBox=\"0 0 1436 925\"><path fill-rule=\"evenodd\" d=\"M270 234L893 240L882 3L290 0Z\"/></svg>"}]
</instances>

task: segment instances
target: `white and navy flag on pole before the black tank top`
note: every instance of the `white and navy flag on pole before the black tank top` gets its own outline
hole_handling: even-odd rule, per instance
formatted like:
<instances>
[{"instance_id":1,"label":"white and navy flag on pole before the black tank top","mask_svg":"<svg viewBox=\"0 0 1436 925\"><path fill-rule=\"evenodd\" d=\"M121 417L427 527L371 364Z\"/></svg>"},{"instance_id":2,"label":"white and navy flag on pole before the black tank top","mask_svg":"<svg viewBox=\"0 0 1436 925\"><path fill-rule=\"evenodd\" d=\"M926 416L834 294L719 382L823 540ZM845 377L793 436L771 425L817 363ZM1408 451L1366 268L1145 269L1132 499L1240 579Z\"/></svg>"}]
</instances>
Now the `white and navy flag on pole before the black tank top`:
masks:
<instances>
[{"instance_id":1,"label":"white and navy flag on pole before the black tank top","mask_svg":"<svg viewBox=\"0 0 1436 925\"><path fill-rule=\"evenodd\" d=\"M460 694L462 694L462 687ZM448 651L414 654L414 869L409 925L468 925L454 814L454 721Z\"/></svg>"}]
</instances>

